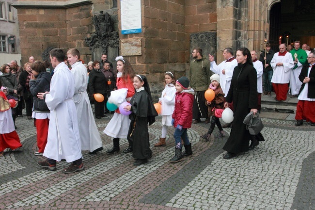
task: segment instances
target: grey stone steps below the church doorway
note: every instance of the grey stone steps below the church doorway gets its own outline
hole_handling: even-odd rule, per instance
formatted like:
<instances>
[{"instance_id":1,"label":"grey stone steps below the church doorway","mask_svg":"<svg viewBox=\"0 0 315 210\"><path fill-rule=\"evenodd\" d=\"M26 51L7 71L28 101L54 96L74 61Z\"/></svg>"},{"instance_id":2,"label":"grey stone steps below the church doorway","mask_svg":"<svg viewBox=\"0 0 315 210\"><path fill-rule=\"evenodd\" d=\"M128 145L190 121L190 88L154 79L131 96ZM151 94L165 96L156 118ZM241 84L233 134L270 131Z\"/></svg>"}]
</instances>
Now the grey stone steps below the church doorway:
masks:
<instances>
[{"instance_id":1,"label":"grey stone steps below the church doorway","mask_svg":"<svg viewBox=\"0 0 315 210\"><path fill-rule=\"evenodd\" d=\"M271 93L271 97L261 97L261 109L266 112L295 113L297 110L298 98L291 98L287 94L285 101L277 101L274 99L275 93Z\"/></svg>"}]
</instances>

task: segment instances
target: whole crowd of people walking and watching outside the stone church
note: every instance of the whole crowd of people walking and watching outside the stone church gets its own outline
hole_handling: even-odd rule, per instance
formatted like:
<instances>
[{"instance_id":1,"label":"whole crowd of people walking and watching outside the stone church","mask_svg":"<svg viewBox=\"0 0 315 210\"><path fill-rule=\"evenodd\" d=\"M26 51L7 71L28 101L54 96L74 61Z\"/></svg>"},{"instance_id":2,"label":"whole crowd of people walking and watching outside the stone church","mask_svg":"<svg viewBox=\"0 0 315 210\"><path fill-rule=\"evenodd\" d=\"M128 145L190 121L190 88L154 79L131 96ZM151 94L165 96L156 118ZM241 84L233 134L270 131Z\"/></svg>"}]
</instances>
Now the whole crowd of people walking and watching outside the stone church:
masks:
<instances>
[{"instance_id":1,"label":"whole crowd of people walking and watching outside the stone church","mask_svg":"<svg viewBox=\"0 0 315 210\"><path fill-rule=\"evenodd\" d=\"M176 80L174 72L164 74L165 88L158 101L162 130L154 146L166 145L168 127L173 126L175 155L170 162L179 162L192 154L187 129L205 118L205 123L210 123L207 133L201 135L205 141L211 139L215 125L219 129L215 138L224 136L223 128L232 127L223 147L227 151L224 159L254 149L264 137L261 133L251 135L243 121L248 113L260 112L261 96L271 96L272 90L278 101L286 100L288 90L291 97L298 97L296 126L303 125L304 120L315 126L315 52L299 47L300 42L296 41L288 52L286 45L281 44L279 52L275 53L266 43L266 51L259 59L255 50L239 48L234 56L232 48L225 48L224 61L219 65L213 55L206 58L201 48L194 48L187 77ZM38 165L54 171L57 162L64 159L70 165L63 169L63 173L84 170L81 150L89 150L89 154L103 150L91 108L93 102L96 119L113 114L103 131L113 138L113 147L106 152L119 152L120 139L125 138L129 145L123 152L132 152L133 164L147 163L152 157L148 124L152 125L157 116L149 82L144 75L136 75L123 56L118 56L116 62L114 70L107 55L103 54L100 62L95 60L84 65L78 49L64 53L55 48L50 51L53 71L47 61L35 61L32 56L24 68L16 61L2 65L0 155L5 148L22 146L15 131L15 120L23 116L25 108L27 118L34 119L37 129L38 150L34 155L47 158ZM208 89L215 94L211 101L205 98ZM94 100L95 94L102 95L104 100ZM117 94L124 95L123 101L129 103L123 107L129 115L121 113L119 108L115 111L108 109L109 97L115 98ZM11 99L14 103L9 102ZM119 106L118 102L116 105ZM233 110L234 119L221 126L216 109L224 108ZM182 152L183 146L185 151Z\"/></svg>"}]
</instances>

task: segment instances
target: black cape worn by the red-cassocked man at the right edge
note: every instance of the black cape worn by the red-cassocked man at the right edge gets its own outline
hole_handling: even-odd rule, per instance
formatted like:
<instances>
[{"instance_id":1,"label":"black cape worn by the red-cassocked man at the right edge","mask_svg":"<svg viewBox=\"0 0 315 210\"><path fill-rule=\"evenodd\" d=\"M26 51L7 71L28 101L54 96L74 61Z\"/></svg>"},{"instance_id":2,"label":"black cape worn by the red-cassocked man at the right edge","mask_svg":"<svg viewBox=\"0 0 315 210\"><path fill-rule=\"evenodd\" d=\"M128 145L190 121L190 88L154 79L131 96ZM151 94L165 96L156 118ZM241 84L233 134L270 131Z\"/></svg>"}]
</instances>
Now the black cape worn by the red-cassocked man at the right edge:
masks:
<instances>
[{"instance_id":1,"label":"black cape worn by the red-cassocked man at the right edge","mask_svg":"<svg viewBox=\"0 0 315 210\"><path fill-rule=\"evenodd\" d=\"M303 65L301 73L299 74L299 81L302 82L301 89L299 89L299 94L301 93L305 86L303 80L305 77L307 77L308 68L309 64ZM311 68L310 75L308 77L310 78L310 81L308 83L307 97L315 98L315 65Z\"/></svg>"}]
</instances>

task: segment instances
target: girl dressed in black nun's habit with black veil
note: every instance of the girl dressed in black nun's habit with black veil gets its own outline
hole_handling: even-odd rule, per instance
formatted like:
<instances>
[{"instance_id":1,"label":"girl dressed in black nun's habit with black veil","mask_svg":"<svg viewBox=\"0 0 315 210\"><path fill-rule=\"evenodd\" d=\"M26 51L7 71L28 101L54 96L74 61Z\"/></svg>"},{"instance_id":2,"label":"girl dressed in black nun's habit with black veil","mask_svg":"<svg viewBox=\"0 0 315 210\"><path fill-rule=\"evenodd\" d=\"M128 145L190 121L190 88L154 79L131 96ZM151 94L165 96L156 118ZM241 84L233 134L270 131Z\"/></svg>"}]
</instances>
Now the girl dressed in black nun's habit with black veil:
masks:
<instances>
[{"instance_id":1,"label":"girl dressed in black nun's habit with black veil","mask_svg":"<svg viewBox=\"0 0 315 210\"><path fill-rule=\"evenodd\" d=\"M135 95L131 98L131 106L125 106L125 111L131 111L131 120L127 140L132 145L132 157L136 159L133 165L142 165L152 157L150 149L148 123L155 122L157 111L153 105L149 83L145 76L136 75L133 78Z\"/></svg>"}]
</instances>

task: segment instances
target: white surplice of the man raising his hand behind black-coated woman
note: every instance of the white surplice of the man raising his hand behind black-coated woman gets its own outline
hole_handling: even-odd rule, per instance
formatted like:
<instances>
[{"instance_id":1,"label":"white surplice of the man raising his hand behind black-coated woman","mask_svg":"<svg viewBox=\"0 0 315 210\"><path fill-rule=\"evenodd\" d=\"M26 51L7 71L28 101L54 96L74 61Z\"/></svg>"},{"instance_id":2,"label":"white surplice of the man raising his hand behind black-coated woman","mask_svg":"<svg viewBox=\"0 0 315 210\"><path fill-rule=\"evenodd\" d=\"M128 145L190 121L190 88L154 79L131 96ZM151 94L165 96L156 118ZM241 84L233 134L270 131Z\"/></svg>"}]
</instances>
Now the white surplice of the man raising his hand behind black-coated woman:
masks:
<instances>
[{"instance_id":1,"label":"white surplice of the man raising his hand behind black-coated woman","mask_svg":"<svg viewBox=\"0 0 315 210\"><path fill-rule=\"evenodd\" d=\"M225 94L224 97L227 96L229 92L231 80L233 76L234 67L237 65L236 59L231 62L223 61L221 64L217 65L215 61L210 62L211 67L210 70L220 75L220 85L222 88L223 93ZM225 74L222 73L222 70L225 70Z\"/></svg>"}]
</instances>

